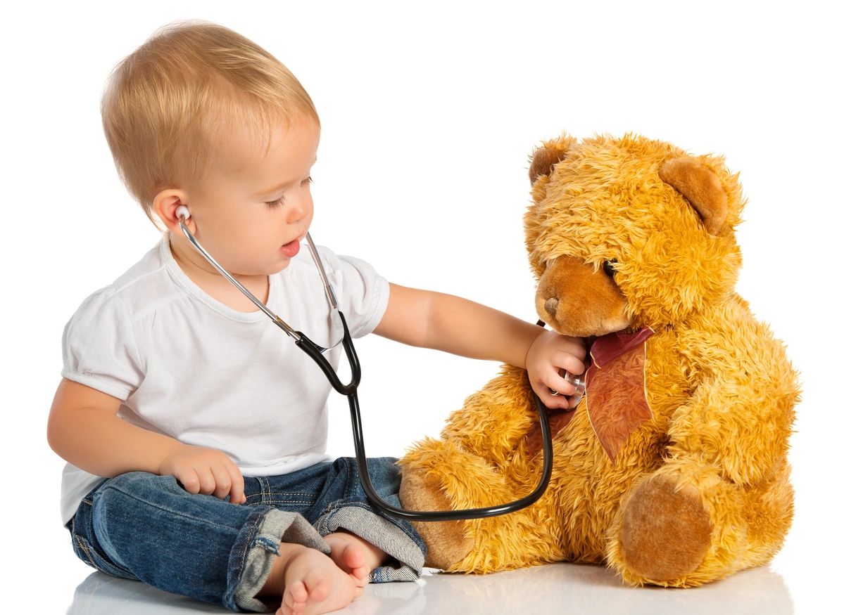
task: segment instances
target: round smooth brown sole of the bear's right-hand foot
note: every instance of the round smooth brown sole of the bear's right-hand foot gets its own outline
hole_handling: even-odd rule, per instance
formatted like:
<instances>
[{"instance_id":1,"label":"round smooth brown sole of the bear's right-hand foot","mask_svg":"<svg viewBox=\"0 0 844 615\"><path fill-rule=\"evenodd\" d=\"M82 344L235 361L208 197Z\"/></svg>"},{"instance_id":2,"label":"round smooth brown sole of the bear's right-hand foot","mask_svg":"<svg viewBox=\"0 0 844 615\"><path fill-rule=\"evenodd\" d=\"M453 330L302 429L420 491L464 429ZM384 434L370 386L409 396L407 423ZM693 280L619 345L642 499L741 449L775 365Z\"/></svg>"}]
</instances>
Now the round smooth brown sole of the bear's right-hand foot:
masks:
<instances>
[{"instance_id":1,"label":"round smooth brown sole of the bear's right-hand foot","mask_svg":"<svg viewBox=\"0 0 844 615\"><path fill-rule=\"evenodd\" d=\"M710 548L711 523L694 485L655 476L627 502L619 538L627 580L684 586Z\"/></svg>"}]
</instances>

